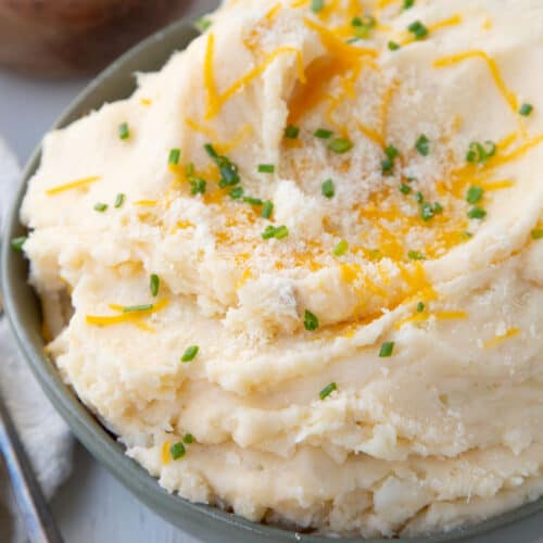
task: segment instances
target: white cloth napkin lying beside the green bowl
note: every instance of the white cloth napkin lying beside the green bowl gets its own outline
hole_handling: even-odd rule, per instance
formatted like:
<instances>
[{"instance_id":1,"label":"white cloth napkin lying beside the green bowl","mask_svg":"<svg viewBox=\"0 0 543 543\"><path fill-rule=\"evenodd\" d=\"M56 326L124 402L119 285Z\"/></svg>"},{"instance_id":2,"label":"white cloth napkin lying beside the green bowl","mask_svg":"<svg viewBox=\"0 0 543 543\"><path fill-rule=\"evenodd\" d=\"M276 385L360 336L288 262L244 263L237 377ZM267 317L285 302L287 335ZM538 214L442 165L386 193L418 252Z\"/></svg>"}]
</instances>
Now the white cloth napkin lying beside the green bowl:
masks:
<instances>
[{"instance_id":1,"label":"white cloth napkin lying beside the green bowl","mask_svg":"<svg viewBox=\"0 0 543 543\"><path fill-rule=\"evenodd\" d=\"M0 138L0 230L17 186L20 169ZM9 242L9 240L4 240ZM1 305L1 304L0 304ZM50 498L72 470L73 438L17 353L7 318L0 317L0 394L34 466L41 489ZM0 541L26 542L25 528L10 491L0 458Z\"/></svg>"}]
</instances>

